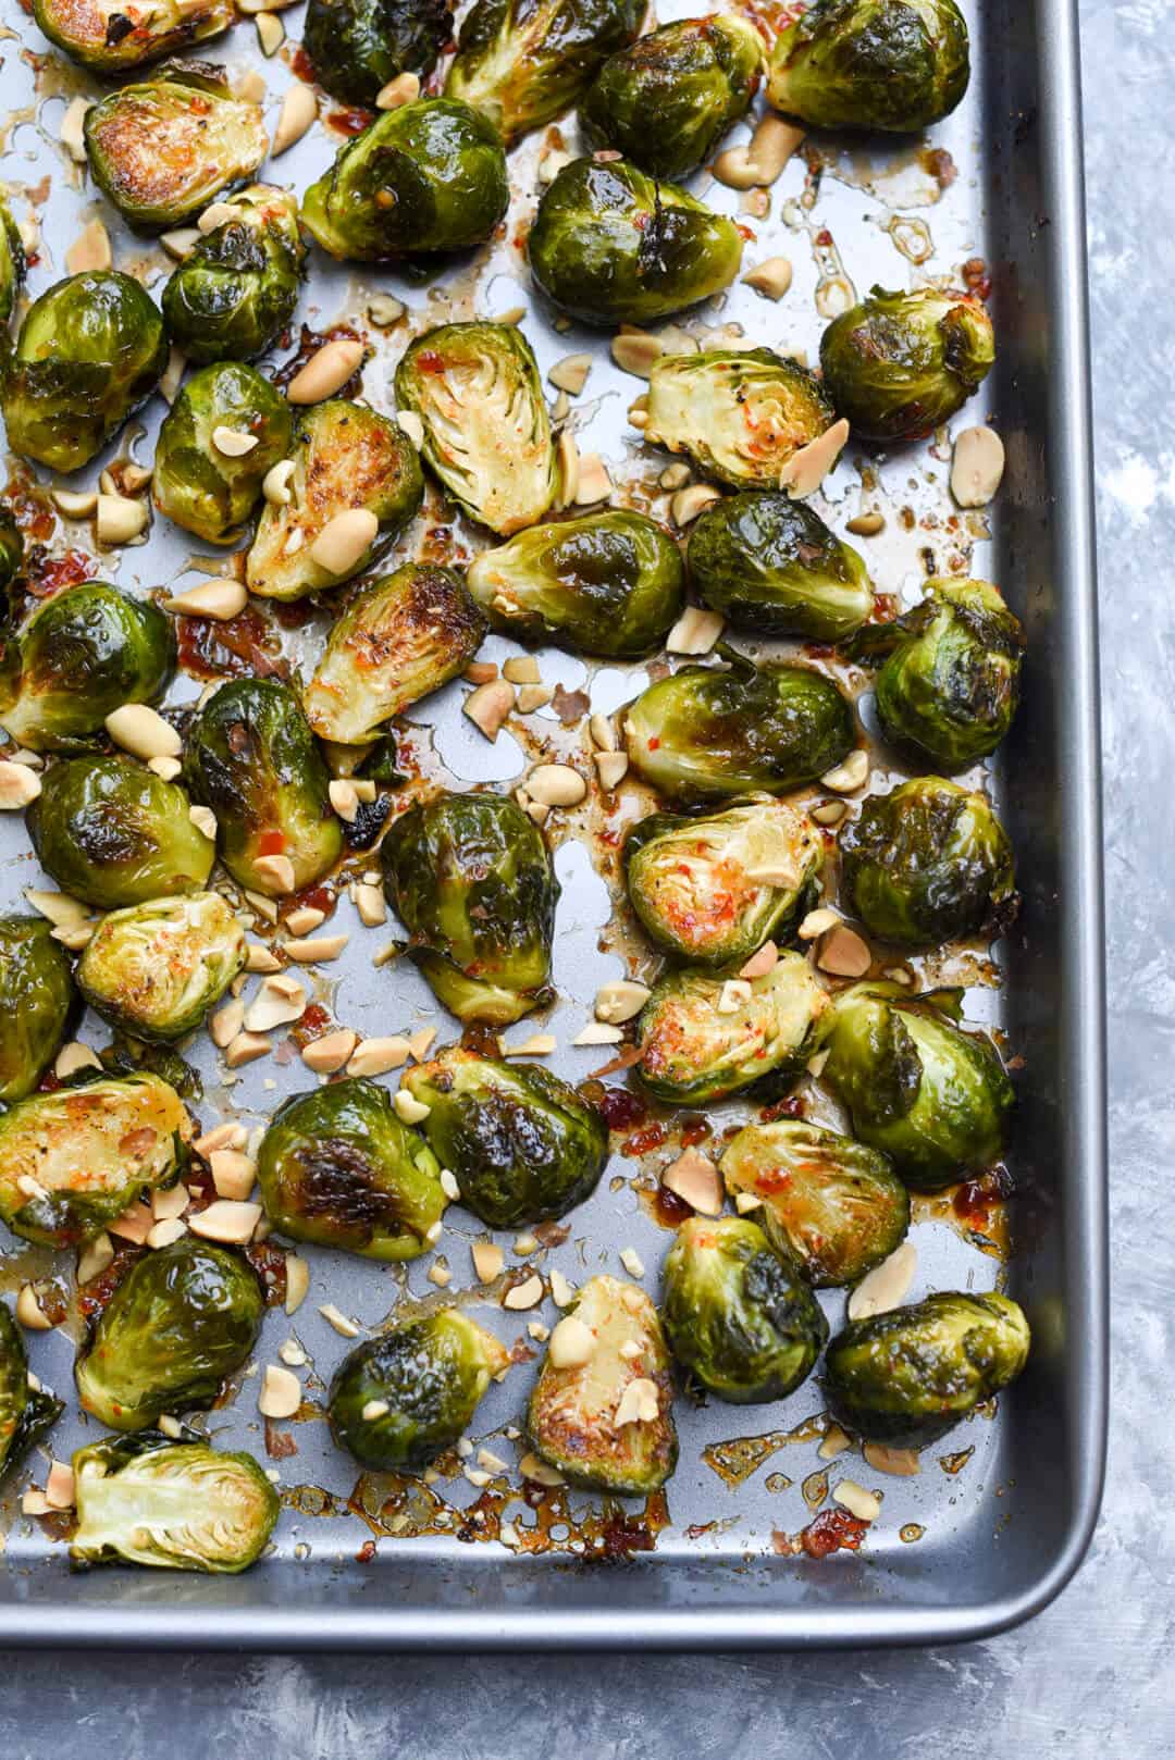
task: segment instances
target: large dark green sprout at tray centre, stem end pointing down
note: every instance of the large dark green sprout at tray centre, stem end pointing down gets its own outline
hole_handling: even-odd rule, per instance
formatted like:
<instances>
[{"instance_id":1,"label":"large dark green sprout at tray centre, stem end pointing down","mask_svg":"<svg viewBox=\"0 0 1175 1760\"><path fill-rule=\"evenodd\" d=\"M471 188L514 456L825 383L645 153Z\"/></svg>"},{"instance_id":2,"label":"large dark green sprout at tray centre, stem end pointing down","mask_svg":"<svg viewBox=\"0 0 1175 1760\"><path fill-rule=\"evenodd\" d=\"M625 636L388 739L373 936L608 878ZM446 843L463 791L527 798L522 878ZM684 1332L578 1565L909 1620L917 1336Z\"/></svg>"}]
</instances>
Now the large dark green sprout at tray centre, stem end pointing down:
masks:
<instances>
[{"instance_id":1,"label":"large dark green sprout at tray centre, stem end pointing down","mask_svg":"<svg viewBox=\"0 0 1175 1760\"><path fill-rule=\"evenodd\" d=\"M558 880L537 825L500 794L440 794L381 845L384 891L437 998L507 1026L551 1000Z\"/></svg>"}]
</instances>

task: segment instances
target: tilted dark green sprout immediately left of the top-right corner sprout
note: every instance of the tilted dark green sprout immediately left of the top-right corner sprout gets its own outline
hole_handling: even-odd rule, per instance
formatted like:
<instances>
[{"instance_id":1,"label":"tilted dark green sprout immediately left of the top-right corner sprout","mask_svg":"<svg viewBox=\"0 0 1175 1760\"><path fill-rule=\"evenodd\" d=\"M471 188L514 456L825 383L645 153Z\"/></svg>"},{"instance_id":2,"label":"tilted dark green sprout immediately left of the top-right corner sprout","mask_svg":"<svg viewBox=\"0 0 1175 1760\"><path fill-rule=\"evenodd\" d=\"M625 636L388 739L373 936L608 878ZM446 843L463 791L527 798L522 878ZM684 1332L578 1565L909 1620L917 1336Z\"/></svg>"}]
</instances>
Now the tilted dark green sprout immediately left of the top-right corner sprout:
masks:
<instances>
[{"instance_id":1,"label":"tilted dark green sprout immediately left of the top-right corner sprout","mask_svg":"<svg viewBox=\"0 0 1175 1760\"><path fill-rule=\"evenodd\" d=\"M759 90L763 39L736 14L687 18L604 62L580 106L594 146L650 178L684 178L747 114Z\"/></svg>"}]
</instances>

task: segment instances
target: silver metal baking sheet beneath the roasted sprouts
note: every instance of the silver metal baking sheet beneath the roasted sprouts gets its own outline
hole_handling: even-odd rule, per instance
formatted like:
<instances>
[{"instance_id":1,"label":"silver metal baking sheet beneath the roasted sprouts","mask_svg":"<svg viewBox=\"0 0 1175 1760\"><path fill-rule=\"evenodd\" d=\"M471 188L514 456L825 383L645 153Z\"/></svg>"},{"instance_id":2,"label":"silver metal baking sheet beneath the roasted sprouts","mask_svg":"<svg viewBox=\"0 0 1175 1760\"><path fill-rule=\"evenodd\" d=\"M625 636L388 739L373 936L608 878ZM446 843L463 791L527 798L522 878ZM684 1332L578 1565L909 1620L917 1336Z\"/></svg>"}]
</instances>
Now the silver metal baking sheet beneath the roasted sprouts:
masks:
<instances>
[{"instance_id":1,"label":"silver metal baking sheet beneath the roasted sprouts","mask_svg":"<svg viewBox=\"0 0 1175 1760\"><path fill-rule=\"evenodd\" d=\"M661 21L689 12L680 0L659 7ZM976 1417L928 1450L920 1478L879 1480L860 1457L833 1463L833 1480L849 1473L876 1484L884 1505L858 1554L839 1552L821 1563L779 1556L773 1544L773 1535L796 1533L810 1519L802 1485L824 1466L816 1454L817 1427L807 1422L821 1412L816 1380L775 1406L712 1401L696 1410L682 1399L682 1461L662 1512L647 1510L641 1500L610 1512L587 1494L536 1512L516 1494L514 1468L488 1491L460 1471L426 1491L393 1482L356 1485L356 1468L329 1445L324 1422L289 1426L296 1456L270 1463L285 1501L273 1552L245 1577L224 1580L129 1570L70 1575L63 1547L19 1515L19 1489L30 1478L42 1482L44 1461L33 1457L28 1471L5 1485L4 1642L275 1649L939 1642L1027 1617L1076 1568L1097 1508L1106 1397L1096 628L1076 23L1071 0L1022 7L1002 0L981 12L965 5L965 12L974 72L958 113L927 143L872 151L860 143L810 141L812 151L796 157L772 190L770 216L742 215L754 232L747 264L787 255L794 266L789 294L772 304L738 285L682 324L699 336L736 324L752 341L807 348L814 357L824 320L840 310L849 289L914 285L928 276L957 282L962 266L976 260L990 276L999 363L958 421L992 419L1006 440L1008 475L997 507L960 521L946 495L950 454L927 442L888 456L851 445L824 486L823 510L844 530L867 482L868 505L886 512L886 533L867 544L883 591L911 602L927 572L969 570L1001 583L1029 632L1024 709L990 778L1016 845L1025 905L1013 935L994 949L1001 986L990 984L992 973L979 961L967 966L978 980L967 1012L1001 1024L1008 1047L1025 1060L1011 1156L1016 1251L1006 1264L978 1251L951 1220L927 1207L914 1230L914 1294L988 1288L1002 1278L1025 1304L1034 1329L1025 1376L1001 1397L994 1422ZM16 190L19 215L35 213L41 225L30 290L41 292L63 273L69 243L100 211L116 264L159 292L167 273L162 253L118 227L58 139L69 99L99 88L48 49L16 0L4 0L0 16L11 113L0 137L0 176ZM255 53L245 19L231 37L206 46L208 56L234 74L250 65L261 72L270 120L294 77L285 56L301 30L299 11L282 18L287 51L271 62ZM564 137L574 148L574 120L564 125ZM338 132L321 125L261 174L303 190L340 143ZM447 317L525 306L523 327L544 370L564 354L592 350L592 375L571 417L580 449L608 459L618 502L647 505L664 458L643 449L625 426L639 384L613 366L606 338L578 326L555 327L528 285L518 238L534 211L543 144L543 136L532 137L511 155L514 195L497 245L426 283L388 269L328 268L315 257L299 319L315 329L351 322L366 333L375 354L365 394L377 408L391 408L391 368L410 334ZM696 188L706 185L705 174L692 180ZM706 195L724 211L738 204L719 185ZM409 306L407 320L393 331L366 326L366 297L375 289ZM282 350L275 361L280 357ZM160 417L162 403L153 400L139 422L146 435L134 440L137 458L150 461ZM125 451L130 438L134 428L113 452ZM81 477L92 482L97 468ZM654 502L654 510L662 505ZM433 526L439 514L433 500ZM418 523L396 554L412 554L426 533L426 523ZM458 556L479 542L472 530L451 524ZM88 532L58 524L49 544L55 551L85 549ZM141 591L190 584L194 549L199 546L157 519L144 547L104 554L100 574ZM294 658L319 639L321 623L285 637ZM490 658L511 651L497 637L484 648ZM645 681L641 667L590 667L555 651L539 660L546 683L583 688L595 708L617 708ZM197 688L181 679L176 697ZM539 750L562 753L585 737L544 711L525 723L521 737L504 732L488 744L460 715L462 690L449 686L409 716L426 778L509 787ZM868 725L868 700L861 711ZM886 778L884 755L877 778ZM634 808L636 797L620 817ZM574 1051L569 1040L597 984L615 977L632 950L608 928L599 822L592 810L557 832L560 1000L541 1024L558 1037L553 1067L573 1081L595 1068L601 1052ZM0 838L0 903L12 908L21 903L19 889L39 884L41 875L19 824L5 820ZM322 968L321 1000L340 1023L363 1033L435 1024L439 1042L456 1037L410 964L373 968L372 952L389 929L361 929L345 896L333 928L349 929L351 943L338 964ZM935 972L957 973L962 961L948 966ZM521 1038L536 1024L507 1037ZM104 1042L93 1021L83 1037ZM312 1084L296 1058L271 1056L229 1084L206 1040L192 1054L206 1084L197 1107L204 1125L241 1116L252 1126L287 1093ZM810 1098L816 1116L831 1116L816 1095ZM740 1109L728 1105L715 1114L721 1126ZM537 1255L541 1267L558 1265L576 1283L597 1269L618 1271L618 1251L631 1246L655 1292L669 1236L636 1188L655 1179L671 1151L669 1140L645 1160L617 1155L595 1197L569 1218L569 1239ZM469 1288L469 1244L479 1232L460 1207L449 1211L439 1246L453 1269L444 1299L472 1302L476 1316L507 1343L527 1345L527 1318L550 1325L557 1311L548 1301L534 1316L507 1315ZM499 1239L509 1258L513 1237ZM7 1239L4 1246L5 1290L44 1269L44 1255ZM268 1315L257 1362L236 1401L208 1419L218 1440L259 1456L257 1366L275 1360L278 1345L296 1336L312 1359L303 1375L308 1397L322 1403L324 1383L349 1348L321 1318L321 1302L335 1302L370 1329L403 1302L442 1299L426 1281L430 1260L405 1272L305 1251L314 1274L310 1299L292 1320L280 1309ZM830 1292L823 1301L837 1324L844 1297ZM69 1332L33 1336L30 1346L35 1371L67 1397ZM474 1443L511 1464L525 1447L511 1431L521 1420L532 1373L516 1366L474 1420ZM85 1434L69 1412L53 1433L53 1452L65 1457ZM705 1450L736 1438L761 1438L742 1450L743 1466L757 1461L740 1482L728 1484ZM965 1450L971 1454L958 1471L939 1464L941 1456ZM495 1538L502 1519L513 1522L514 1544ZM911 1524L921 1529L916 1540ZM643 1549L654 1538L655 1545ZM606 1561L597 1561L601 1552Z\"/></svg>"}]
</instances>

